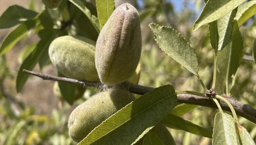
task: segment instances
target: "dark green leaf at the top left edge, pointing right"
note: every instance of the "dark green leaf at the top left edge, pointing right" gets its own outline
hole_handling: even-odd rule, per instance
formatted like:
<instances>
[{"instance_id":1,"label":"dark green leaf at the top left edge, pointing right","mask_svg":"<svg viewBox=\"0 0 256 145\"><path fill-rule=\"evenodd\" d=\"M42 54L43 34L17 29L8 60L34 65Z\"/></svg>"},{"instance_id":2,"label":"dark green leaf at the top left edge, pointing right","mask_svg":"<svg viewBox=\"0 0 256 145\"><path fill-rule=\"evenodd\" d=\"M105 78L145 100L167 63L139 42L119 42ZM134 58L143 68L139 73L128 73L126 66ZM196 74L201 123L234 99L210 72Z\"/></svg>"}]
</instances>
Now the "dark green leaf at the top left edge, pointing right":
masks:
<instances>
[{"instance_id":1,"label":"dark green leaf at the top left edge, pointing right","mask_svg":"<svg viewBox=\"0 0 256 145\"><path fill-rule=\"evenodd\" d=\"M18 5L10 6L0 17L0 29L10 28L28 19L34 18L36 12L27 10Z\"/></svg>"}]
</instances>

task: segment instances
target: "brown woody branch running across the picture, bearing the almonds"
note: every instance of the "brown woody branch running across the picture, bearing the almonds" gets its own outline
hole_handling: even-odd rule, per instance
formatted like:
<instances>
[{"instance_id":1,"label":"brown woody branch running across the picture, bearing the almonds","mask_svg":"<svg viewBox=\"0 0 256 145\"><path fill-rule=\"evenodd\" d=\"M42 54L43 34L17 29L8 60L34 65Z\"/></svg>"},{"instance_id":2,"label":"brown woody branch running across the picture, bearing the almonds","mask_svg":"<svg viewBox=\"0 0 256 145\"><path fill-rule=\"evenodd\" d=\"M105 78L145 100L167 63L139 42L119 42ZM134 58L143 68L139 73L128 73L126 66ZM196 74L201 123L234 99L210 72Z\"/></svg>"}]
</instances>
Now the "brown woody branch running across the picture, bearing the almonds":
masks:
<instances>
[{"instance_id":1,"label":"brown woody branch running across the picture, bearing the almonds","mask_svg":"<svg viewBox=\"0 0 256 145\"><path fill-rule=\"evenodd\" d=\"M38 72L26 70L26 69L24 69L23 71L28 74L38 76L46 80L64 81L68 83L82 85L83 87L99 87L101 85L100 82L80 81L80 80L71 79L71 78L57 77L57 76L42 74L42 73L38 73ZM140 94L140 95L146 94L148 91L154 89L152 87L146 87L146 86L141 86L141 85L132 84L132 83L129 83L128 85L129 85L129 91L131 93ZM218 108L214 103L214 101L208 97L201 97L201 96L196 96L191 94L178 94L177 97L178 97L178 103L186 103L186 104L207 106L211 108ZM256 110L252 106L244 104L234 98L226 98L226 99L232 104L237 115L244 117L256 124ZM220 105L223 110L231 112L231 110L229 109L226 103L220 101Z\"/></svg>"}]
</instances>

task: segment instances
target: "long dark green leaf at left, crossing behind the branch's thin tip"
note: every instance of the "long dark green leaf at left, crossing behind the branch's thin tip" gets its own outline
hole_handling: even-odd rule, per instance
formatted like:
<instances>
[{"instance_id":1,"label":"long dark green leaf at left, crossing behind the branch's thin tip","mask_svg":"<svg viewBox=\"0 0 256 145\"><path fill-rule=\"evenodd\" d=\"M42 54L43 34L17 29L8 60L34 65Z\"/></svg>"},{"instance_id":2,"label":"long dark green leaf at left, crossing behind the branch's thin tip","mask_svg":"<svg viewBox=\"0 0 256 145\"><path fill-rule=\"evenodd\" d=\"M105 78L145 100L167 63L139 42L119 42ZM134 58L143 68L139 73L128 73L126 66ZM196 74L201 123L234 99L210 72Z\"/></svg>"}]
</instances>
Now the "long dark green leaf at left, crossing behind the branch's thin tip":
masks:
<instances>
[{"instance_id":1,"label":"long dark green leaf at left, crossing behind the branch's thin tip","mask_svg":"<svg viewBox=\"0 0 256 145\"><path fill-rule=\"evenodd\" d=\"M23 69L32 70L36 63L38 62L40 56L42 56L43 53L48 52L48 47L52 40L55 38L55 34L52 31L52 33L49 33L47 36L42 38L36 45L36 48L32 51L32 53L22 62L17 79L16 79L16 91L17 93L20 92L21 88L25 85L29 74L23 72Z\"/></svg>"}]
</instances>

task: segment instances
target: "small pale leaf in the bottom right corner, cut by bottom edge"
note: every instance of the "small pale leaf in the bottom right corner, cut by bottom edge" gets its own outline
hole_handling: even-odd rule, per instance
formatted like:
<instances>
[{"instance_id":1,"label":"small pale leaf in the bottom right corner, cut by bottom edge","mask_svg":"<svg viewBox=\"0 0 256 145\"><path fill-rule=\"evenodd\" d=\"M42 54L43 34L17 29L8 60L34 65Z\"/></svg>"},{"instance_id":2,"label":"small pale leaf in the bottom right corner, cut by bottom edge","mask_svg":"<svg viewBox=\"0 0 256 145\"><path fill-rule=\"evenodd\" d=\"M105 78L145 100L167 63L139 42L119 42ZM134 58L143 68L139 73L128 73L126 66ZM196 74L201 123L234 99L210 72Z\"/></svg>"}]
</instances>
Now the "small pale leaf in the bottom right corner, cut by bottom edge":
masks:
<instances>
[{"instance_id":1,"label":"small pale leaf in the bottom right corner, cut by bottom edge","mask_svg":"<svg viewBox=\"0 0 256 145\"><path fill-rule=\"evenodd\" d=\"M240 124L237 124L238 127L238 133L240 137L240 141L242 142L243 145L255 145L252 137L250 134L247 132L247 130L241 126Z\"/></svg>"}]
</instances>

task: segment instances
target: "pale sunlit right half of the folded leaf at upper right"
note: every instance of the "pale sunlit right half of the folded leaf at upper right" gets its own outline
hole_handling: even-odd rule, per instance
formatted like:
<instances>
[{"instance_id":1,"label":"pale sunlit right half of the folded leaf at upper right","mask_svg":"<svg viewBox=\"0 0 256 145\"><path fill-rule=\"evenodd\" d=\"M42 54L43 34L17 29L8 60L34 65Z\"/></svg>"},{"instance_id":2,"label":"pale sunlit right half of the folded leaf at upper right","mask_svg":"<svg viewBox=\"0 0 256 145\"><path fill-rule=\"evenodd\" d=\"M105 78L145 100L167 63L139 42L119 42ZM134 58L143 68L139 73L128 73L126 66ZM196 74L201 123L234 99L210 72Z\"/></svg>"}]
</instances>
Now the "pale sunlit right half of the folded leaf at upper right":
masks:
<instances>
[{"instance_id":1,"label":"pale sunlit right half of the folded leaf at upper right","mask_svg":"<svg viewBox=\"0 0 256 145\"><path fill-rule=\"evenodd\" d=\"M230 11L224 17L217 20L217 28L218 28L218 35L219 35L218 50L223 49L230 40L236 12L237 12L237 8Z\"/></svg>"}]
</instances>

